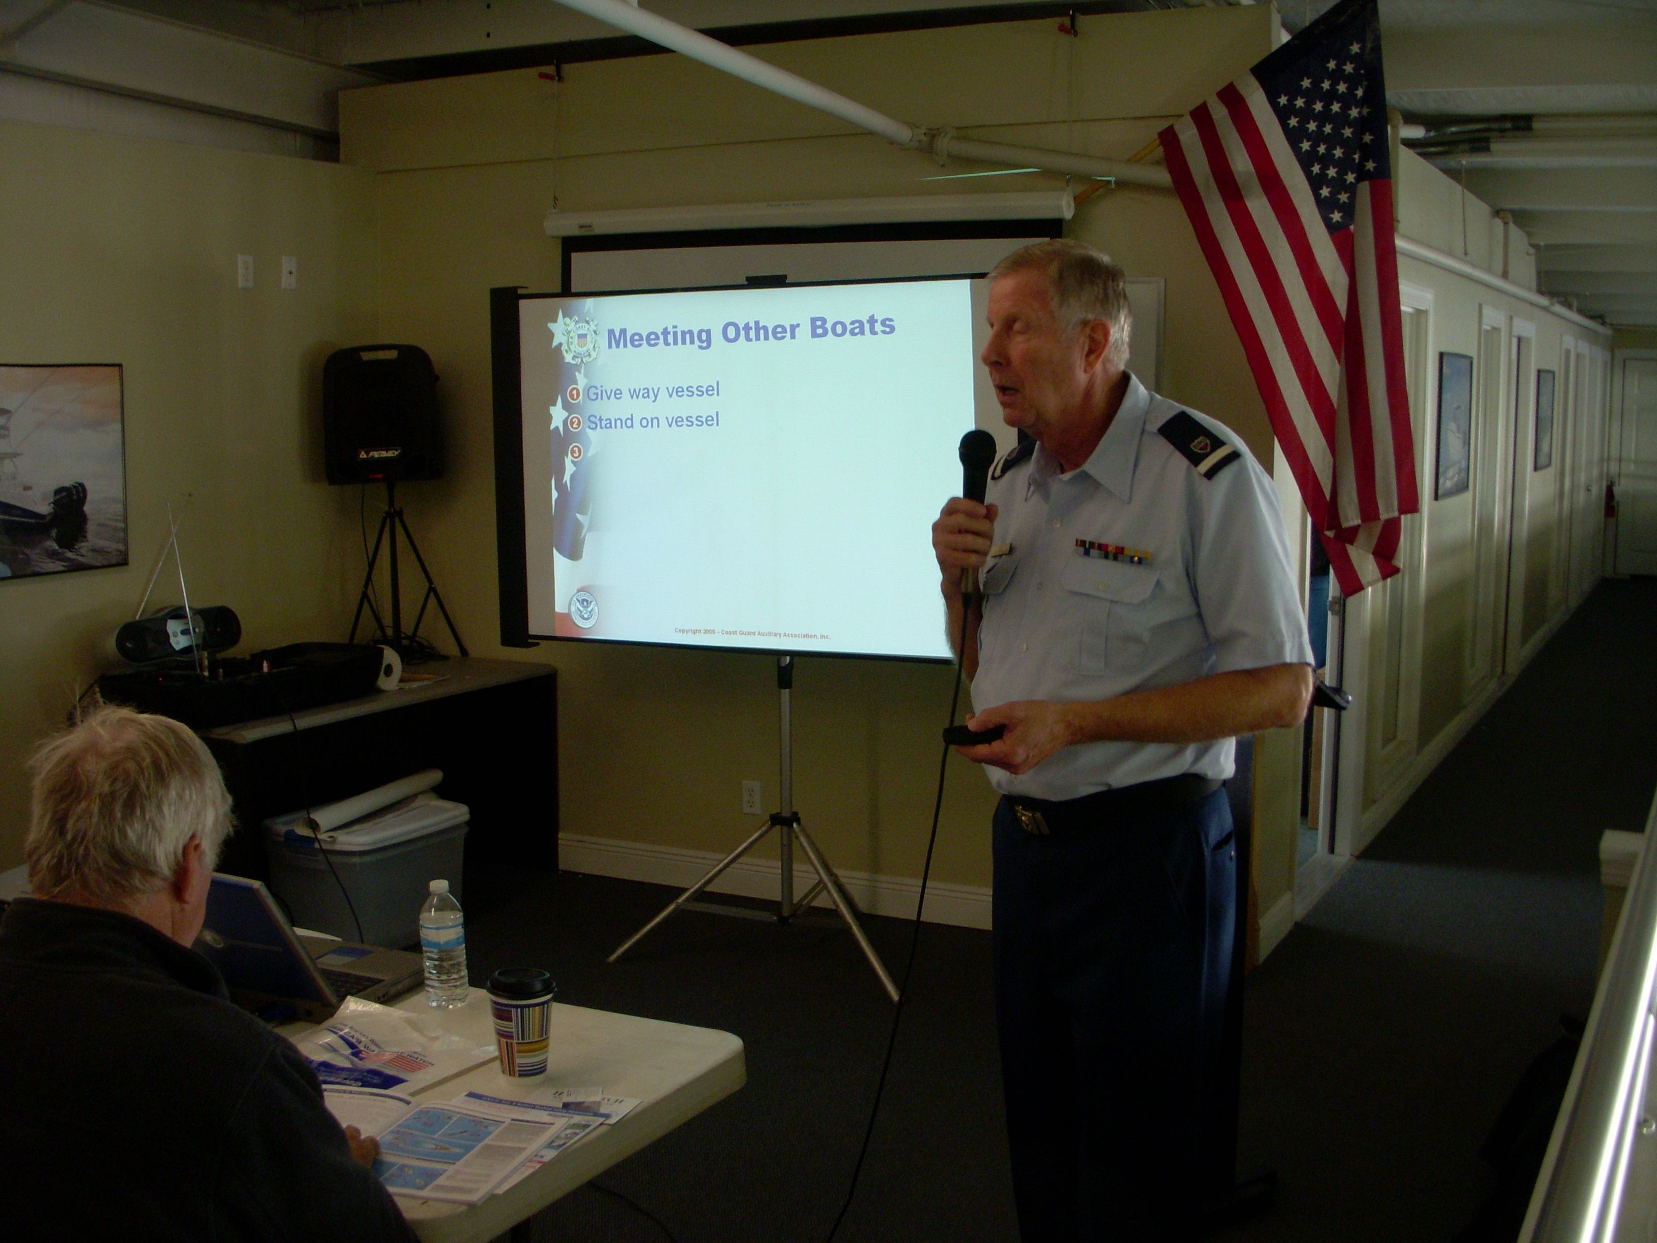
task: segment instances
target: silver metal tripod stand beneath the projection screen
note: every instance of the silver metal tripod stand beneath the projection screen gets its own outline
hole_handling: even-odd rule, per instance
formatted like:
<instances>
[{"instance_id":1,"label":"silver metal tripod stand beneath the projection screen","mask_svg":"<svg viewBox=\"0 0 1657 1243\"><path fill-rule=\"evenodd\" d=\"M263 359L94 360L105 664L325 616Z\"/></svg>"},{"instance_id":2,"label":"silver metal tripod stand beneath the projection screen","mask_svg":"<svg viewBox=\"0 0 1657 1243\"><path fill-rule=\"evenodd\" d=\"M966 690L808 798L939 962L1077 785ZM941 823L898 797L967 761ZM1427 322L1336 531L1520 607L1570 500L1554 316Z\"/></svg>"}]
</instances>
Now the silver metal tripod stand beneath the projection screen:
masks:
<instances>
[{"instance_id":1,"label":"silver metal tripod stand beneath the projection screen","mask_svg":"<svg viewBox=\"0 0 1657 1243\"><path fill-rule=\"evenodd\" d=\"M822 850L812 840L812 835L805 832L805 825L800 824L800 814L794 810L794 724L789 714L789 693L794 688L794 656L777 656L777 696L780 699L780 799L782 809L772 812L766 824L756 829L742 845L732 850L729 855L721 858L708 872L706 877L691 885L684 893L676 897L668 907L656 915L655 920L646 923L636 933L628 936L608 961L616 961L621 955L638 945L645 936L659 926L669 915L679 910L701 910L713 915L737 915L749 920L771 920L777 923L787 923L794 917L804 913L812 902L817 900L819 893L827 893L828 900L833 903L840 918L845 920L845 926L850 930L857 946L863 951L868 965L875 968L875 976L880 979L880 986L886 989L886 996L893 1003L898 999L898 986L891 983L891 976L886 973L886 965L880 961L880 955L875 953L875 946L868 943L868 936L863 933L863 925L857 920L857 907L852 905L852 898L847 895L845 888L840 885L840 877L835 870L828 867L828 860L824 858ZM766 912L749 910L744 907L727 907L717 902L698 902L704 888L708 888L714 880L717 880L726 868L729 868L736 860L759 845L766 835L775 829L777 830L777 854L780 855L780 870L777 875L779 892L777 892L777 910L775 915ZM794 900L794 842L799 839L800 852L805 855L812 870L817 873L817 882L805 890L799 902Z\"/></svg>"}]
</instances>

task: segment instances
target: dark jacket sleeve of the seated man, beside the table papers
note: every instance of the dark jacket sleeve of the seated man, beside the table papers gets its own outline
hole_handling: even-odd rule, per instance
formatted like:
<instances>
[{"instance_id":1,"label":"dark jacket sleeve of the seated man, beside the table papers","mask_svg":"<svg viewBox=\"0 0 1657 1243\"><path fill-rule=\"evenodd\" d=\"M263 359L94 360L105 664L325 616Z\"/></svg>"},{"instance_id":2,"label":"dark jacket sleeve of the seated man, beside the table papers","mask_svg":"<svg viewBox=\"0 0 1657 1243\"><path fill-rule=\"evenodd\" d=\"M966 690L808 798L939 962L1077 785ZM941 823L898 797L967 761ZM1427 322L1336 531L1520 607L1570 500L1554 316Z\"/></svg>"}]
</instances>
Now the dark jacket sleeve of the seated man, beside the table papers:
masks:
<instances>
[{"instance_id":1,"label":"dark jacket sleeve of the seated man, beside the table papers","mask_svg":"<svg viewBox=\"0 0 1657 1243\"><path fill-rule=\"evenodd\" d=\"M227 1238L413 1243L391 1193L351 1157L298 1051L273 1046L230 1119L217 1203Z\"/></svg>"}]
</instances>

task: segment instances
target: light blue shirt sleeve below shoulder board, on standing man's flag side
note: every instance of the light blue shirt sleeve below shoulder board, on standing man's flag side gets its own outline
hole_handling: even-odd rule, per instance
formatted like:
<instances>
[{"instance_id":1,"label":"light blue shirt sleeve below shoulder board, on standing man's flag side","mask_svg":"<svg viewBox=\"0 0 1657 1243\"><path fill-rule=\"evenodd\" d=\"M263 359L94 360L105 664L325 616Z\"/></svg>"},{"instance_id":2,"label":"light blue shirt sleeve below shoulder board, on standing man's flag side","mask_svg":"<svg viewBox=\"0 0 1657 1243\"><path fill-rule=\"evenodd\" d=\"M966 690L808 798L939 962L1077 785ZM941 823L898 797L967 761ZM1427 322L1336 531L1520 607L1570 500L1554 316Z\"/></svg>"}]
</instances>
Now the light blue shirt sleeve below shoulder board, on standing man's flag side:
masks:
<instances>
[{"instance_id":1,"label":"light blue shirt sleeve below shoulder board, on standing man's flag side","mask_svg":"<svg viewBox=\"0 0 1657 1243\"><path fill-rule=\"evenodd\" d=\"M1241 461L1196 481L1191 587L1220 673L1311 665L1283 509L1271 479Z\"/></svg>"}]
</instances>

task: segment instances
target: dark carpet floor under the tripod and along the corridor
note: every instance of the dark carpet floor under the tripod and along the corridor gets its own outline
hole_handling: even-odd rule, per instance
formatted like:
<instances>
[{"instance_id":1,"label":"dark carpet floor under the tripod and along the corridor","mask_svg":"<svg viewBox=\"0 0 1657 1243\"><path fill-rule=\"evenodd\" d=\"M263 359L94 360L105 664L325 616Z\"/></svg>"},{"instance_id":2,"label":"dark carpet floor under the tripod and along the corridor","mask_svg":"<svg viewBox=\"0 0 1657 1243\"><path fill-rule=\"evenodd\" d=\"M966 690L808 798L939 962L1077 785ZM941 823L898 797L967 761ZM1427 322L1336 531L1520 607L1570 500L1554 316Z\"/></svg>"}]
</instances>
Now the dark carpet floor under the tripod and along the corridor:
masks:
<instances>
[{"instance_id":1,"label":"dark carpet floor under the tripod and along the corridor","mask_svg":"<svg viewBox=\"0 0 1657 1243\"><path fill-rule=\"evenodd\" d=\"M1234 1241L1450 1243L1493 1187L1480 1144L1592 999L1604 829L1657 784L1657 582L1602 583L1307 920L1249 976L1241 1165L1274 1168ZM722 1028L747 1086L535 1221L537 1238L817 1243L838 1212L891 1008L833 925L681 915L673 892L474 867L474 979L553 970L560 999ZM908 925L870 918L893 973ZM608 1188L608 1190L600 1190ZM989 936L926 925L842 1240L1016 1240Z\"/></svg>"}]
</instances>

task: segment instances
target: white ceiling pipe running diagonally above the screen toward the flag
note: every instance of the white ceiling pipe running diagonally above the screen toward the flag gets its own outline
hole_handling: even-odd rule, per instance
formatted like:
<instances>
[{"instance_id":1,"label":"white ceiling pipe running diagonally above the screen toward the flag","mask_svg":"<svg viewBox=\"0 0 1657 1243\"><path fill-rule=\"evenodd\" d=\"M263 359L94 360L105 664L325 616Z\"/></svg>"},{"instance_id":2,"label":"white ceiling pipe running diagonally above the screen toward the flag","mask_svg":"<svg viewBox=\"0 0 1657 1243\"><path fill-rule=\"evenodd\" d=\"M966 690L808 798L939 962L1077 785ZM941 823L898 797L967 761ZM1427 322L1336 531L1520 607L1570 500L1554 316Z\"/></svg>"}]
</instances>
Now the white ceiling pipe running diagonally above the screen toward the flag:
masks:
<instances>
[{"instance_id":1,"label":"white ceiling pipe running diagonally above the screen toward the flag","mask_svg":"<svg viewBox=\"0 0 1657 1243\"><path fill-rule=\"evenodd\" d=\"M949 129L926 129L896 121L885 113L848 99L843 94L819 86L800 78L797 73L779 70L757 56L709 38L699 30L668 22L664 17L636 8L626 0L558 0L565 8L605 22L611 27L648 38L651 43L678 51L691 60L729 73L734 78L762 86L787 99L815 108L842 121L878 134L888 143L895 143L905 151L925 151L944 159L956 156L986 164L1009 164L1012 167L1037 167L1051 172L1065 172L1084 177L1112 177L1118 182L1138 186L1160 186L1171 189L1173 181L1168 169L1155 164L1133 164L1122 159L1099 159L1069 151L1042 151L1039 148L1006 146L1002 143L979 143L978 139L956 138Z\"/></svg>"}]
</instances>

